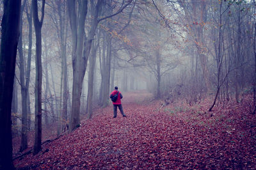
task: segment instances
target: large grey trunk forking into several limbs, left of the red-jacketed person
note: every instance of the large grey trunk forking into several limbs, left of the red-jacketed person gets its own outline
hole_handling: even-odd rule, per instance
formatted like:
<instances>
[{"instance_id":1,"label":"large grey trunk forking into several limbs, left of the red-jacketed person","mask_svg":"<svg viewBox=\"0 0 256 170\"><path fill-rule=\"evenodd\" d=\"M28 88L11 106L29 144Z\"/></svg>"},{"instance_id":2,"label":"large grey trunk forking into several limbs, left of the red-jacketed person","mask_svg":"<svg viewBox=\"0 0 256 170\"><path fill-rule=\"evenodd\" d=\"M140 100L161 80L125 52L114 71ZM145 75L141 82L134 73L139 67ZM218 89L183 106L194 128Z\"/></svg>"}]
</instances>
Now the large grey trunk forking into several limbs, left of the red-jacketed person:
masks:
<instances>
[{"instance_id":1,"label":"large grey trunk forking into several limbs, left of the red-jacketed person","mask_svg":"<svg viewBox=\"0 0 256 170\"><path fill-rule=\"evenodd\" d=\"M69 131L72 132L76 127L79 127L80 118L80 98L83 88L83 78L86 71L88 56L92 47L95 30L99 24L98 15L102 10L103 1L97 1L93 11L93 20L88 32L88 37L84 41L84 21L86 19L88 1L83 1L81 4L81 15L78 19L78 26L76 24L76 2L68 1L68 12L70 15L70 26L72 30L72 66L73 66L73 88L72 88L72 111L70 118ZM82 15L83 14L83 15ZM83 56L82 56L83 52Z\"/></svg>"}]
</instances>

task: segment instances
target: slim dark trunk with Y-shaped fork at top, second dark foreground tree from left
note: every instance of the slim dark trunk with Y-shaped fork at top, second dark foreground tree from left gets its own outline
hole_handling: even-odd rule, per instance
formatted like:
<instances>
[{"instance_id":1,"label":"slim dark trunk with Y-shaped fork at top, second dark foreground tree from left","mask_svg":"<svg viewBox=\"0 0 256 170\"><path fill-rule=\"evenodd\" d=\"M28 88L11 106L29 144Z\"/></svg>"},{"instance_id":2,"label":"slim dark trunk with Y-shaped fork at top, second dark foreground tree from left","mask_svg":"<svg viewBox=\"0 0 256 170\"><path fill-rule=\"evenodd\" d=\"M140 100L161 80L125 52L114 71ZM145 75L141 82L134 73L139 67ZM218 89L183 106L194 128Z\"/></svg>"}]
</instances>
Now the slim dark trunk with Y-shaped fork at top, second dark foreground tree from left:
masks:
<instances>
[{"instance_id":1,"label":"slim dark trunk with Y-shaped fork at top, second dark foreground tree from left","mask_svg":"<svg viewBox=\"0 0 256 170\"><path fill-rule=\"evenodd\" d=\"M37 0L32 1L33 20L36 35L36 82L35 82L35 143L33 154L41 150L42 143L42 24L44 20L45 0L42 0L42 15L38 19Z\"/></svg>"}]
</instances>

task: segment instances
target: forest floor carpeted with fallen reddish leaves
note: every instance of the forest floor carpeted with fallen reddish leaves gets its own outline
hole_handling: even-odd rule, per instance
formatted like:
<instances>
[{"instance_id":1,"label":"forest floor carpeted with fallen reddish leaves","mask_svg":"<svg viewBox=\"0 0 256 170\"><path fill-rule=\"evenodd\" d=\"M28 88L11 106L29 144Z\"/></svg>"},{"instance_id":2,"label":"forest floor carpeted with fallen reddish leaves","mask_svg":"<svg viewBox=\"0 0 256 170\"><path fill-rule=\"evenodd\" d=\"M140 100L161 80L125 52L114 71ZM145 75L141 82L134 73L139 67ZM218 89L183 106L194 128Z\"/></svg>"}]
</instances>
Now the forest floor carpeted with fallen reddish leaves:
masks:
<instances>
[{"instance_id":1,"label":"forest floor carpeted with fallen reddish leaves","mask_svg":"<svg viewBox=\"0 0 256 170\"><path fill-rule=\"evenodd\" d=\"M43 144L37 155L14 161L17 169L256 169L256 115L252 98L205 112L210 100L161 107L145 91L124 94L127 118L113 107ZM212 114L212 116L211 116Z\"/></svg>"}]
</instances>

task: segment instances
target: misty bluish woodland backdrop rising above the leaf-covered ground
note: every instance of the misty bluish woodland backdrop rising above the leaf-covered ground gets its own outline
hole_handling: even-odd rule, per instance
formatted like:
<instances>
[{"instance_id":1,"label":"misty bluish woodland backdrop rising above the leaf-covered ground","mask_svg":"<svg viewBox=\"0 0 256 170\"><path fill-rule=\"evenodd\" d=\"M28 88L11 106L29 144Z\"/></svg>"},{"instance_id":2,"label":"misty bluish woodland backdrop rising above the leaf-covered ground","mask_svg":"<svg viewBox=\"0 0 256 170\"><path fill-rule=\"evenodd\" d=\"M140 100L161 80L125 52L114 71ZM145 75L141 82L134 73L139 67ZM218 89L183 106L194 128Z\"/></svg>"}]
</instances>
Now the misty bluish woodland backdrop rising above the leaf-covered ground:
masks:
<instances>
[{"instance_id":1,"label":"misty bluish woodland backdrop rising above the leaf-covered ground","mask_svg":"<svg viewBox=\"0 0 256 170\"><path fill-rule=\"evenodd\" d=\"M32 4L22 1L12 102L14 137L35 128L36 58L42 59L42 127L54 125L52 134L72 131L81 117L92 118L93 109L108 107L115 86L124 94L148 91L152 100L166 103L183 99L194 105L210 97L212 107L230 98L239 102L255 91L252 1L42 4L38 1L38 56ZM3 1L0 10L2 17Z\"/></svg>"}]
</instances>

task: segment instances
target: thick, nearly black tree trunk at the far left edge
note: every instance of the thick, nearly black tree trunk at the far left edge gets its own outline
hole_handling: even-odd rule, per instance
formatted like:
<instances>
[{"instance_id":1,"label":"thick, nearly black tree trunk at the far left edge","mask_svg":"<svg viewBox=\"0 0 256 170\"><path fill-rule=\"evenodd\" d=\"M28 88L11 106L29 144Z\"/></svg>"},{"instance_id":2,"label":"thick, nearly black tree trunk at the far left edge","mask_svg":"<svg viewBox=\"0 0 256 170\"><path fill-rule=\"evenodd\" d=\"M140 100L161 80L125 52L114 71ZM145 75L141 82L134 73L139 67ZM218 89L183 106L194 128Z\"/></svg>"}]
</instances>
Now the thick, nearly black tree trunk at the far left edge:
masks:
<instances>
[{"instance_id":1,"label":"thick, nearly black tree trunk at the far left edge","mask_svg":"<svg viewBox=\"0 0 256 170\"><path fill-rule=\"evenodd\" d=\"M0 52L0 169L12 162L12 93L19 41L20 0L4 0Z\"/></svg>"}]
</instances>

